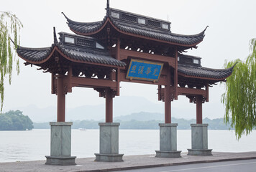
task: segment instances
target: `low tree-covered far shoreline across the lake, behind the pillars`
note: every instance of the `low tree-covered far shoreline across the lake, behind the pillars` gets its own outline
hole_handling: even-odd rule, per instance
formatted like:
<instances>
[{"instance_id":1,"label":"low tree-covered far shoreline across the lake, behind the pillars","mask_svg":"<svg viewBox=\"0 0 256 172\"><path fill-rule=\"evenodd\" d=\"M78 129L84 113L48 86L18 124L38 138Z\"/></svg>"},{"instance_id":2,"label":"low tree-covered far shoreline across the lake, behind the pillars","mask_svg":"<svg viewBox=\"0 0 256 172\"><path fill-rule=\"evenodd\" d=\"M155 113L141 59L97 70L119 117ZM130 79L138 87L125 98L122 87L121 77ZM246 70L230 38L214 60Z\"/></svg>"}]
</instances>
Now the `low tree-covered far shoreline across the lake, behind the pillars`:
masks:
<instances>
[{"instance_id":1,"label":"low tree-covered far shoreline across the lake, behind the pillars","mask_svg":"<svg viewBox=\"0 0 256 172\"><path fill-rule=\"evenodd\" d=\"M114 118L114 122L120 123L120 129L159 129L159 123L164 123L163 114L160 113L132 113ZM99 123L104 120L76 120L72 128L99 129ZM185 120L183 118L172 118L172 123L178 123L178 130L191 130L191 124L196 123L195 119ZM210 120L204 118L203 123L209 124L209 130L228 130L229 126L224 124L223 118ZM49 123L34 123L37 129L50 128Z\"/></svg>"}]
</instances>

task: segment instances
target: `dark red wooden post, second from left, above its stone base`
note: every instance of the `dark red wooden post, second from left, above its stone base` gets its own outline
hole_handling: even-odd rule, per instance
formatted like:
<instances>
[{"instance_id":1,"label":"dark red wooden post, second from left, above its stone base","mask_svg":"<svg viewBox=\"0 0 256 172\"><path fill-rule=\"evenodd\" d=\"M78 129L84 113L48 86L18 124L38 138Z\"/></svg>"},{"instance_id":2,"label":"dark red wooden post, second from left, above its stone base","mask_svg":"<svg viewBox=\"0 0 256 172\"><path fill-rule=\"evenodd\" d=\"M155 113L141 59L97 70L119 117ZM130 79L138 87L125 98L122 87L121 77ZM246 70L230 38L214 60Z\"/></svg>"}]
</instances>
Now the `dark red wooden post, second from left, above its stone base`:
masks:
<instances>
[{"instance_id":1,"label":"dark red wooden post, second from left, above its stone base","mask_svg":"<svg viewBox=\"0 0 256 172\"><path fill-rule=\"evenodd\" d=\"M106 123L113 123L113 95L110 88L106 88Z\"/></svg>"}]
</instances>

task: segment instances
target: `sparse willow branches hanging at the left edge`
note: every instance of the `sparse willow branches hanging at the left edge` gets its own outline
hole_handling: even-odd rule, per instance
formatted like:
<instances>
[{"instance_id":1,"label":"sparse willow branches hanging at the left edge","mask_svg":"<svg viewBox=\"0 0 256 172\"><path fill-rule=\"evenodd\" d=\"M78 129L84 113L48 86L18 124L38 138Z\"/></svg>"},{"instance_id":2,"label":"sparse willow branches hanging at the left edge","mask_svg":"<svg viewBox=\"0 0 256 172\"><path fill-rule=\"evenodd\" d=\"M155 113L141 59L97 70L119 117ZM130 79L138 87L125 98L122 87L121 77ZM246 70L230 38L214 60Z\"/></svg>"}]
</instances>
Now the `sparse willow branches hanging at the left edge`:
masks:
<instances>
[{"instance_id":1,"label":"sparse willow branches hanging at the left edge","mask_svg":"<svg viewBox=\"0 0 256 172\"><path fill-rule=\"evenodd\" d=\"M0 11L0 100L1 111L4 104L4 79L9 77L9 84L12 81L12 67L16 63L17 74L19 74L19 59L15 59L12 48L19 44L19 31L23 27L22 22L14 14ZM11 37L14 44L11 44Z\"/></svg>"}]
</instances>

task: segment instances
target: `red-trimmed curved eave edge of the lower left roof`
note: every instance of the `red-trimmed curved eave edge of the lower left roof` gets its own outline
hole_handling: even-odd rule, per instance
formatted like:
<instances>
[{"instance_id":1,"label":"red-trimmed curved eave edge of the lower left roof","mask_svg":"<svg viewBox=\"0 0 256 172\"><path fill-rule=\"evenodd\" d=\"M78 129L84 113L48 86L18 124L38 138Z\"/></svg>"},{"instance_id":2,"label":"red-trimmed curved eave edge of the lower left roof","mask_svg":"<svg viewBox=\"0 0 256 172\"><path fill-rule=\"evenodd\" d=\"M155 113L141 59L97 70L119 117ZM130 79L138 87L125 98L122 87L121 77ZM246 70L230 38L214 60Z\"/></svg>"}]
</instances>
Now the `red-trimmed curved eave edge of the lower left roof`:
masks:
<instances>
[{"instance_id":1,"label":"red-trimmed curved eave edge of the lower left roof","mask_svg":"<svg viewBox=\"0 0 256 172\"><path fill-rule=\"evenodd\" d=\"M26 49L26 48L24 48ZM49 47L50 49L50 47ZM37 49L35 49L37 50ZM23 57L21 54L18 53L18 56L21 57L22 59L24 59L24 61L29 62L32 65L42 65L43 63L47 62L47 60L49 60L52 57L52 54L54 54L55 52L58 52L61 56L63 56L65 59L68 59L70 62L76 62L76 63L83 63L83 64L88 64L88 65L100 65L103 67L114 67L114 68L124 68L125 66L118 66L118 65L107 65L107 64L103 64L103 63L99 63L99 62L88 62L88 61L83 61L83 60L78 60L78 59L72 59L70 57L68 57L68 55L66 55L63 51L61 51L61 49L58 46L54 46L52 48L52 51L50 52L49 55L47 55L47 57L45 57L43 60L40 61L35 61L35 60L29 60L25 57Z\"/></svg>"}]
</instances>

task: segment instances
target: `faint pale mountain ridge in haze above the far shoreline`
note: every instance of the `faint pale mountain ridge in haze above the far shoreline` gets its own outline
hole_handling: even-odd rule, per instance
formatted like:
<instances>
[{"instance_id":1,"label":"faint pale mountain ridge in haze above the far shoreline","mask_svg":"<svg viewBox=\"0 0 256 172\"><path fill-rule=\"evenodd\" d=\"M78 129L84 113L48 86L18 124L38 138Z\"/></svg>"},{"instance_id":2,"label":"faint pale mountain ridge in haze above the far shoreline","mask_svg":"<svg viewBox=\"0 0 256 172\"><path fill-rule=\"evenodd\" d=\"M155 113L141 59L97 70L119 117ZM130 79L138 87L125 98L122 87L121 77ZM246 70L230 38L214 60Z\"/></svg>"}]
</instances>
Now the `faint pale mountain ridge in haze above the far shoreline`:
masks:
<instances>
[{"instance_id":1,"label":"faint pale mountain ridge in haze above the far shoreline","mask_svg":"<svg viewBox=\"0 0 256 172\"><path fill-rule=\"evenodd\" d=\"M68 105L66 105L68 107ZM164 120L164 103L155 103L147 100L145 97L120 96L114 98L113 103L114 118L119 120L128 120L136 116L137 120ZM193 106L192 106L193 107ZM38 108L36 105L18 108L24 115L35 123L43 123L57 120L57 108L47 107ZM140 113L138 112L147 112ZM128 115L125 116L124 115ZM186 105L175 107L172 106L173 118L191 119L195 118L196 110L191 106ZM84 105L77 108L66 108L65 120L103 120L105 119L105 105Z\"/></svg>"}]
</instances>

